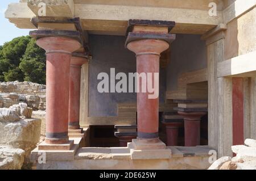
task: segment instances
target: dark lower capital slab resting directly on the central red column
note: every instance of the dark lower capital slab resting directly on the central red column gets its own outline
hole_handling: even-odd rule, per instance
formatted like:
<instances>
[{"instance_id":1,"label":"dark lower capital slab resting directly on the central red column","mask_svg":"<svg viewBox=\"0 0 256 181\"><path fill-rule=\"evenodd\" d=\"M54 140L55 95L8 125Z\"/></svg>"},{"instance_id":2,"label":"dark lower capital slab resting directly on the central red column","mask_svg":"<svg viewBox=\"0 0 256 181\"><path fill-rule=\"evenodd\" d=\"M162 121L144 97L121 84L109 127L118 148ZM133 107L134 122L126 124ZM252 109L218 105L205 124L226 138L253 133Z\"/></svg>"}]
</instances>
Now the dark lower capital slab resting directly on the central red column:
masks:
<instances>
[{"instance_id":1,"label":"dark lower capital slab resting directly on the central red column","mask_svg":"<svg viewBox=\"0 0 256 181\"><path fill-rule=\"evenodd\" d=\"M175 34L167 33L144 33L144 32L129 32L126 42L125 42L125 47L131 42L131 41L137 41L137 40L163 40L166 41L167 43L171 44L172 41L176 39Z\"/></svg>"}]
</instances>

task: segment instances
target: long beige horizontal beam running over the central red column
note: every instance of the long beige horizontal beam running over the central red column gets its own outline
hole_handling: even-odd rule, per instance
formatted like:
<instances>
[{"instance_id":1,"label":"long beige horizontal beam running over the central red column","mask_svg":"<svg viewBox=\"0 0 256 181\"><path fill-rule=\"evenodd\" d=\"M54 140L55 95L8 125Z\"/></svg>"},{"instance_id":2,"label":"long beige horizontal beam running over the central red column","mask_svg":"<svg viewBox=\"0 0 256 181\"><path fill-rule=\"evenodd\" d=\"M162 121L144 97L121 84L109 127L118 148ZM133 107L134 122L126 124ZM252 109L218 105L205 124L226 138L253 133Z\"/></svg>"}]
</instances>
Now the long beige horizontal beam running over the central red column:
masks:
<instances>
[{"instance_id":1,"label":"long beige horizontal beam running over the central red column","mask_svg":"<svg viewBox=\"0 0 256 181\"><path fill-rule=\"evenodd\" d=\"M218 12L222 14L221 12ZM222 16L209 16L208 10L172 9L162 7L139 6L109 6L109 5L77 5L75 4L75 16L85 21L84 29L90 30L87 21L94 22L94 30L101 31L106 27L118 27L125 33L129 19L151 19L176 22L173 33L204 33L216 27L222 22ZM106 20L108 24L102 27L101 22ZM97 24L98 23L98 24ZM198 26L197 28L195 26ZM198 31L196 31L198 30Z\"/></svg>"}]
</instances>

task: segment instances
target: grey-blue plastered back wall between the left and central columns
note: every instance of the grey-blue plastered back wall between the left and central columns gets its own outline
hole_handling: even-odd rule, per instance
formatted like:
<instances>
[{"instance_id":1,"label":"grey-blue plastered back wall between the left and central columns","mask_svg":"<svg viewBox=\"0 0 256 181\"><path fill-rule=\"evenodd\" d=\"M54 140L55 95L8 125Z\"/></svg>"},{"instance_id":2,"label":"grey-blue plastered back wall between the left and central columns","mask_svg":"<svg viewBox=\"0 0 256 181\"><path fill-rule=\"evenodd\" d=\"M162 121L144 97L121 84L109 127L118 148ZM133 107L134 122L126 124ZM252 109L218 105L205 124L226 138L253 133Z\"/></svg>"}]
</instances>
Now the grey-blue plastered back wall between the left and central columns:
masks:
<instances>
[{"instance_id":1,"label":"grey-blue plastered back wall between the left and central columns","mask_svg":"<svg viewBox=\"0 0 256 181\"><path fill-rule=\"evenodd\" d=\"M135 93L100 93L97 85L101 80L97 76L101 72L108 73L110 68L119 72L136 72L136 57L125 48L125 36L90 35L89 43L92 61L89 63L89 117L117 116L118 103L136 103ZM160 69L160 102L164 102L166 90L166 71ZM118 81L115 81L117 83Z\"/></svg>"}]
</instances>

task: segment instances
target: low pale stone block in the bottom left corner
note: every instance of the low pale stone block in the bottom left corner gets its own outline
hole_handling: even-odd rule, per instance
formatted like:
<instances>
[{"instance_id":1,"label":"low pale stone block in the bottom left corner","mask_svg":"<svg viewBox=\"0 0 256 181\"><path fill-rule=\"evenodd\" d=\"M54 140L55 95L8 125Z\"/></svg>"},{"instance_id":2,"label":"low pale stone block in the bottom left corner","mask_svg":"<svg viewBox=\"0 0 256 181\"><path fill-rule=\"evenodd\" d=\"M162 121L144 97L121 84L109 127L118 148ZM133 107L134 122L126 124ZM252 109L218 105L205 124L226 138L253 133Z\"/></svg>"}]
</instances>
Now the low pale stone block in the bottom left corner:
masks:
<instances>
[{"instance_id":1,"label":"low pale stone block in the bottom left corner","mask_svg":"<svg viewBox=\"0 0 256 181\"><path fill-rule=\"evenodd\" d=\"M0 170L21 169L25 151L7 146L0 146Z\"/></svg>"}]
</instances>

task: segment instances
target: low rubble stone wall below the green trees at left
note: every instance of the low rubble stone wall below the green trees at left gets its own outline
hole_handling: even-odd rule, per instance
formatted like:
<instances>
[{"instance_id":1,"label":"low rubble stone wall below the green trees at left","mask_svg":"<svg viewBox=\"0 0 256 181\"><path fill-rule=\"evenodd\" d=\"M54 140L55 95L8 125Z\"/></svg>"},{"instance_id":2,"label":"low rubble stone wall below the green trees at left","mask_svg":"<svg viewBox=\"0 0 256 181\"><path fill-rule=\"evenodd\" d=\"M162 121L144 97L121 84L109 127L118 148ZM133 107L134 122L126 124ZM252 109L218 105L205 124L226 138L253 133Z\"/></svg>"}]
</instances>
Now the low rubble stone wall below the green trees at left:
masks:
<instances>
[{"instance_id":1,"label":"low rubble stone wall below the green trees at left","mask_svg":"<svg viewBox=\"0 0 256 181\"><path fill-rule=\"evenodd\" d=\"M26 103L33 110L46 110L46 85L32 82L0 82L0 108Z\"/></svg>"}]
</instances>

